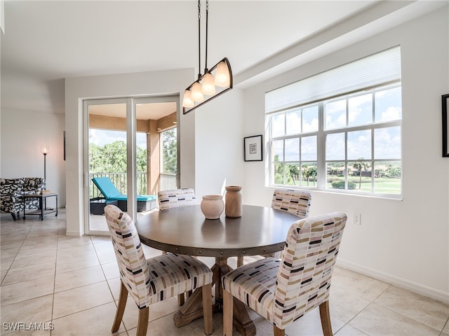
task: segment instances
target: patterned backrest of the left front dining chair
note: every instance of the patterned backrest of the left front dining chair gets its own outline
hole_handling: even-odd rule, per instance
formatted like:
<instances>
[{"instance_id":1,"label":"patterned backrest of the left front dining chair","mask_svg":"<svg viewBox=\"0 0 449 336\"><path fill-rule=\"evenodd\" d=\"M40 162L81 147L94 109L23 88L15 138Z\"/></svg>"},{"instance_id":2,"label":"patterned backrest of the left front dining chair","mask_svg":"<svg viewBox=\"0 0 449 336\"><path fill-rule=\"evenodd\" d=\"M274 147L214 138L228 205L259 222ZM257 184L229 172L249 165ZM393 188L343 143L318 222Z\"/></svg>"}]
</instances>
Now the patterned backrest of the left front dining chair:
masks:
<instances>
[{"instance_id":1,"label":"patterned backrest of the left front dining chair","mask_svg":"<svg viewBox=\"0 0 449 336\"><path fill-rule=\"evenodd\" d=\"M149 268L133 219L114 205L105 207L105 217L120 279L139 308L148 307Z\"/></svg>"}]
</instances>

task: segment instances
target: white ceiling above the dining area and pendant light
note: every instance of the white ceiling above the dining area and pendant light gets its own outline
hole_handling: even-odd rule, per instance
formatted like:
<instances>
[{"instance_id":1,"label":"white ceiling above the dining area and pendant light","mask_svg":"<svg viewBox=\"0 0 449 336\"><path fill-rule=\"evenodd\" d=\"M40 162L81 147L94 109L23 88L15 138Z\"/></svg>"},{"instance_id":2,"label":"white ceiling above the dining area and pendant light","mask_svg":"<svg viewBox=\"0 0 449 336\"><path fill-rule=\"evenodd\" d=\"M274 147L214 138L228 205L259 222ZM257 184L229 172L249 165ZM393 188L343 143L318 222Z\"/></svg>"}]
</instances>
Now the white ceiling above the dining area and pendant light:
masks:
<instances>
[{"instance_id":1,"label":"white ceiling above the dining area and pendant light","mask_svg":"<svg viewBox=\"0 0 449 336\"><path fill-rule=\"evenodd\" d=\"M447 3L387 1L387 7L384 2L210 0L208 66L228 57L234 83L243 86L260 79L256 74L297 66L311 57L311 49L338 48L330 42L342 36L366 38ZM63 78L186 68L198 72L197 5L191 0L5 0L2 111L64 113ZM204 10L204 1L201 6ZM202 12L203 25L204 19ZM337 31L343 33L320 42L321 48L307 47L318 43L317 36ZM288 52L296 56L282 56ZM201 72L204 67L201 59Z\"/></svg>"}]
</instances>

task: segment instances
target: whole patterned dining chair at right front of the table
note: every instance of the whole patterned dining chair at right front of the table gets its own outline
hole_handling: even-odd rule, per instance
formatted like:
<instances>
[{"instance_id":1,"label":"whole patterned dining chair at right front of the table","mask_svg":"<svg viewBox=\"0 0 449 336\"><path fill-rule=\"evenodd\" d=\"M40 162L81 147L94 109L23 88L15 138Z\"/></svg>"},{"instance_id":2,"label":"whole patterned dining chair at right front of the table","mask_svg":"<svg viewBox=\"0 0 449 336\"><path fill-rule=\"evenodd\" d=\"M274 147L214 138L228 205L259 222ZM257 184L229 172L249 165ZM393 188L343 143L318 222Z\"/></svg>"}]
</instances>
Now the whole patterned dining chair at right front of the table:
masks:
<instances>
[{"instance_id":1,"label":"whole patterned dining chair at right front of the table","mask_svg":"<svg viewBox=\"0 0 449 336\"><path fill-rule=\"evenodd\" d=\"M330 280L347 216L334 212L290 226L281 260L263 258L222 276L223 335L232 336L233 297L273 324L274 335L319 307L321 328L332 335Z\"/></svg>"}]
</instances>

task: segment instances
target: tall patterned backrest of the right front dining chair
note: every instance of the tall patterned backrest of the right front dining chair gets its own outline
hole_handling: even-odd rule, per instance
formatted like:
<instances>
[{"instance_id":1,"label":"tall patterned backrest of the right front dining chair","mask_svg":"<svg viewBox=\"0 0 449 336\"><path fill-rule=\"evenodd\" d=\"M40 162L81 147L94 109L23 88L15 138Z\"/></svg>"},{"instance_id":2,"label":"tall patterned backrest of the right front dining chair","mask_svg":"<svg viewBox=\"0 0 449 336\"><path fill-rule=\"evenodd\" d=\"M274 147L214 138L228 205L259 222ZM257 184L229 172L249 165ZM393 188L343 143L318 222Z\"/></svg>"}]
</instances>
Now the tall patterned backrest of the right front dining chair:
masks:
<instances>
[{"instance_id":1,"label":"tall patterned backrest of the right front dining chair","mask_svg":"<svg viewBox=\"0 0 449 336\"><path fill-rule=\"evenodd\" d=\"M290 226L276 277L274 324L295 321L328 300L347 216L334 212Z\"/></svg>"}]
</instances>

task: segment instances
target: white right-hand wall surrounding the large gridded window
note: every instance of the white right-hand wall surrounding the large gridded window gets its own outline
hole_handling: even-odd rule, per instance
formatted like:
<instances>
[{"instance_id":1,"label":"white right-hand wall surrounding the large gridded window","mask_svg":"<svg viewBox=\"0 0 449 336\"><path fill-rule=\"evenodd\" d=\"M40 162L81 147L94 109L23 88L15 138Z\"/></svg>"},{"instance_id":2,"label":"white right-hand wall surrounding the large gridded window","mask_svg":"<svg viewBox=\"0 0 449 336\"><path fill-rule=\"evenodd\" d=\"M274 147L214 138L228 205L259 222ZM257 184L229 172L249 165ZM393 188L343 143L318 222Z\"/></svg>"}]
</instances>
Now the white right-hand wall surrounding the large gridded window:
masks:
<instances>
[{"instance_id":1,"label":"white right-hand wall surrounding the large gridded window","mask_svg":"<svg viewBox=\"0 0 449 336\"><path fill-rule=\"evenodd\" d=\"M339 262L449 302L449 158L441 158L441 95L449 93L448 7L244 92L243 134L264 134L264 92L401 45L403 200L313 192L311 216L348 215ZM264 162L243 165L243 202L269 205ZM353 224L354 213L361 225Z\"/></svg>"}]
</instances>

